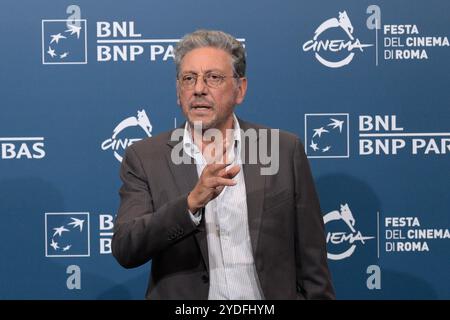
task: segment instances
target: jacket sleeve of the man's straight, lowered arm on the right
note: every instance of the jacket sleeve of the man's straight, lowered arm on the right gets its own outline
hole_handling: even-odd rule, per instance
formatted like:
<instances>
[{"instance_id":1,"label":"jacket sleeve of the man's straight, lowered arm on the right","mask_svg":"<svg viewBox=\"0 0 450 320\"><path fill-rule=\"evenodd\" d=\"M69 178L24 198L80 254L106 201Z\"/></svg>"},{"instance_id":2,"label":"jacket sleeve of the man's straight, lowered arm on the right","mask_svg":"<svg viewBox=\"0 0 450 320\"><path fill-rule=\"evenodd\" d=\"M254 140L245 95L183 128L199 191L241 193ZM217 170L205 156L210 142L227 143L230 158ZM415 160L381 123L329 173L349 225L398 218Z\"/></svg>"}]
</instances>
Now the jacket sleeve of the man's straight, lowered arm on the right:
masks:
<instances>
[{"instance_id":1,"label":"jacket sleeve of the man's straight, lowered arm on the right","mask_svg":"<svg viewBox=\"0 0 450 320\"><path fill-rule=\"evenodd\" d=\"M319 199L303 145L298 138L294 151L294 175L297 292L300 299L334 299Z\"/></svg>"}]
</instances>

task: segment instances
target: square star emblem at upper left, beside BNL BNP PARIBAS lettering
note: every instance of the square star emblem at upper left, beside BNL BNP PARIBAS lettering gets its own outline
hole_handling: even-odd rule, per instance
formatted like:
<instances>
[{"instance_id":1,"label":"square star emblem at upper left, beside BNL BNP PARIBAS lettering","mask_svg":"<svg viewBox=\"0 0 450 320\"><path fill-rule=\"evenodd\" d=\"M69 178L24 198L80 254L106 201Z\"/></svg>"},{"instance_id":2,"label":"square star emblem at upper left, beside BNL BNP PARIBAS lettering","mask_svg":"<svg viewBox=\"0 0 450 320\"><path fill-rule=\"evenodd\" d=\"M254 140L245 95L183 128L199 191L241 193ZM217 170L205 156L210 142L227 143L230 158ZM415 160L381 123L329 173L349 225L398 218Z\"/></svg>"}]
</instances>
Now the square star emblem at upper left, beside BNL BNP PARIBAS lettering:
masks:
<instances>
[{"instance_id":1,"label":"square star emblem at upper left, beside BNL BNP PARIBAS lettering","mask_svg":"<svg viewBox=\"0 0 450 320\"><path fill-rule=\"evenodd\" d=\"M86 64L86 19L42 20L43 64Z\"/></svg>"}]
</instances>

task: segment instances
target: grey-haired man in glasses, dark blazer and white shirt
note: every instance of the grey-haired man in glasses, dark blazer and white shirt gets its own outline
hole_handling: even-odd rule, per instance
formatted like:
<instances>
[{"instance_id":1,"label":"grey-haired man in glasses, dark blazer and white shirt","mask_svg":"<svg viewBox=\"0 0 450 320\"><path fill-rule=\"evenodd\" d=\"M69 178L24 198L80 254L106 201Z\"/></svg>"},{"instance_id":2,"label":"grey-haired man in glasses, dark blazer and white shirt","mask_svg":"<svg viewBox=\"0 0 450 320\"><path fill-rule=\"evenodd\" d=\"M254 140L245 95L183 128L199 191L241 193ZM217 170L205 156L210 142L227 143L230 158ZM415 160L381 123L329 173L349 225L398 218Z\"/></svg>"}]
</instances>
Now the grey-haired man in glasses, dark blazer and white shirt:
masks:
<instances>
[{"instance_id":1,"label":"grey-haired man in glasses, dark blazer and white shirt","mask_svg":"<svg viewBox=\"0 0 450 320\"><path fill-rule=\"evenodd\" d=\"M148 299L333 299L301 142L234 115L247 89L243 46L199 30L180 41L175 63L187 122L127 148L116 259L152 260ZM275 169L254 161L255 146Z\"/></svg>"}]
</instances>

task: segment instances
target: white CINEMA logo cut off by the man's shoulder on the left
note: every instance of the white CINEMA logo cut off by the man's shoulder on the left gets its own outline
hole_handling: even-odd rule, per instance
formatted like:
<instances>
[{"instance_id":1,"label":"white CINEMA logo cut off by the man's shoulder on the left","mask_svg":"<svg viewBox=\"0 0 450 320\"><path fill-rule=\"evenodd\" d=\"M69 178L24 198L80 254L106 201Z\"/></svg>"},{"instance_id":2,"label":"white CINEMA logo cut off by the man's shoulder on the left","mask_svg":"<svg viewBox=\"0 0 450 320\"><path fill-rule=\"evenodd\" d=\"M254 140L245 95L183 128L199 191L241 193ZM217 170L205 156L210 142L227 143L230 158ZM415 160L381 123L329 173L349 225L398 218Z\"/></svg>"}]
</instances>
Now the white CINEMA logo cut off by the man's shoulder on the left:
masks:
<instances>
[{"instance_id":1,"label":"white CINEMA logo cut off by the man's shoulder on the left","mask_svg":"<svg viewBox=\"0 0 450 320\"><path fill-rule=\"evenodd\" d=\"M142 140L143 137L137 138L136 136L142 136L143 133L144 137L152 136L152 125L144 109L138 110L137 116L128 117L122 120L114 128L111 138L103 141L101 145L102 150L113 150L114 157L119 162L122 162L125 149L134 142ZM130 138L131 135L135 138Z\"/></svg>"}]
</instances>

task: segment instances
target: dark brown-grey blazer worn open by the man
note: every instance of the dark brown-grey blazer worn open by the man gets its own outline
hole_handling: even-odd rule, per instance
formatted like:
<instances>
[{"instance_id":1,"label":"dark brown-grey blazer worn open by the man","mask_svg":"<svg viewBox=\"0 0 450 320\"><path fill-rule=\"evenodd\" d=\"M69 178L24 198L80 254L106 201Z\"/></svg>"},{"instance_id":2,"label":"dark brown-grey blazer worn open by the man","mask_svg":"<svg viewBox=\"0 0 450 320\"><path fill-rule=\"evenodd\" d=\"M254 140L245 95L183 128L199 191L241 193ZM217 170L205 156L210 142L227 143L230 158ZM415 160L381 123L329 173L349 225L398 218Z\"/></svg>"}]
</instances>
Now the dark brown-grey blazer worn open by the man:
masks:
<instances>
[{"instance_id":1,"label":"dark brown-grey blazer worn open by the man","mask_svg":"<svg viewBox=\"0 0 450 320\"><path fill-rule=\"evenodd\" d=\"M239 123L242 130L264 128ZM170 136L147 138L126 150L112 253L125 268L152 260L147 299L207 299L204 219L195 226L187 208L197 170L193 163L171 161L178 141ZM261 164L243 165L250 238L264 297L333 299L323 219L303 146L283 131L279 144L276 175L261 175Z\"/></svg>"}]
</instances>

